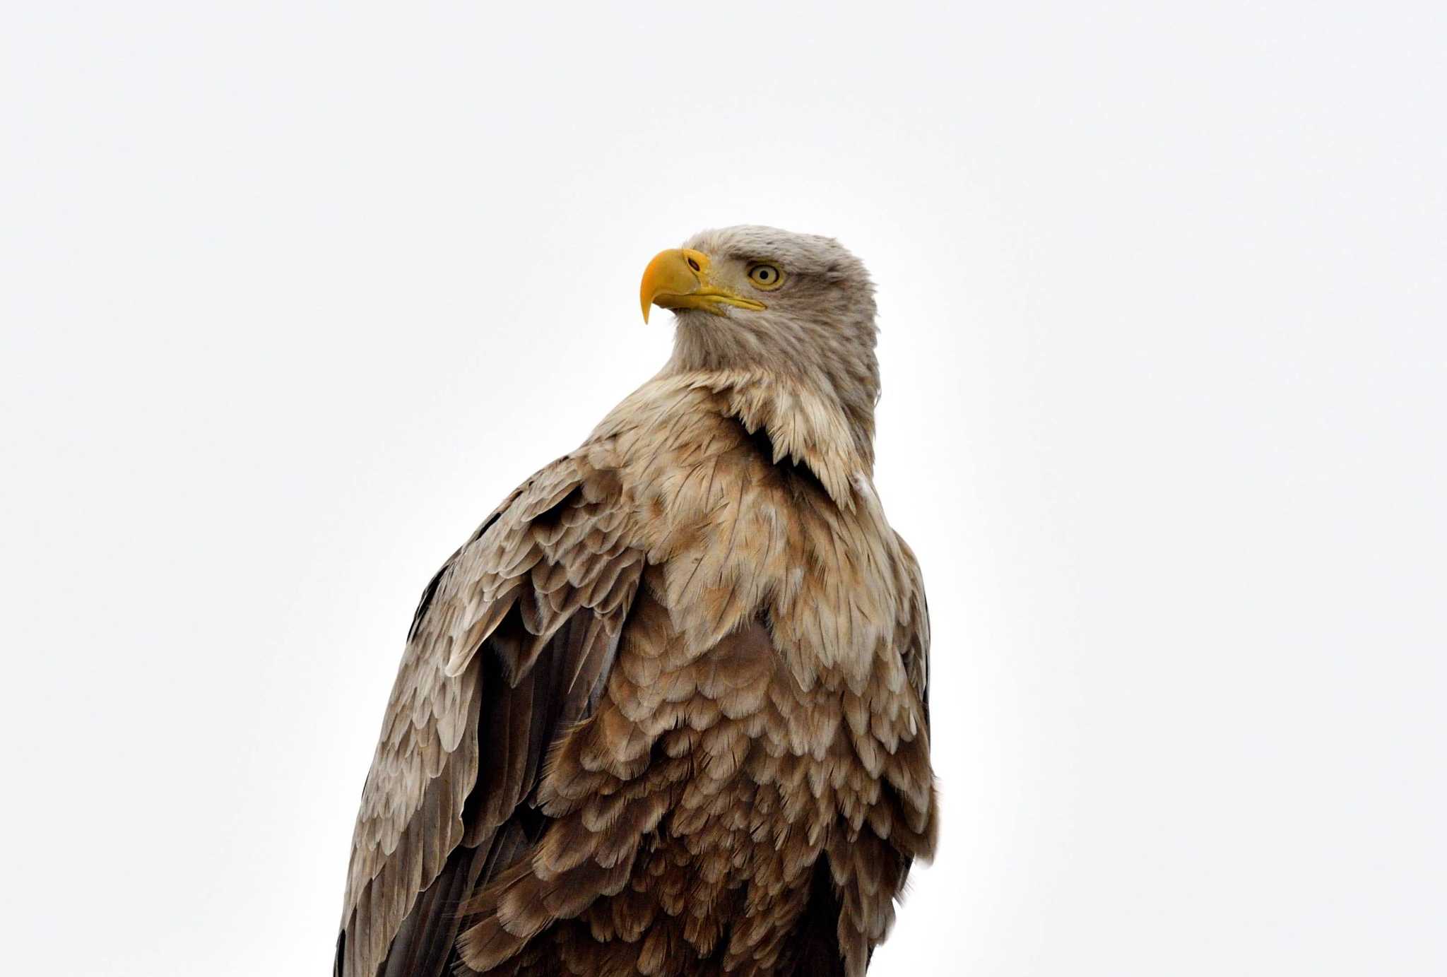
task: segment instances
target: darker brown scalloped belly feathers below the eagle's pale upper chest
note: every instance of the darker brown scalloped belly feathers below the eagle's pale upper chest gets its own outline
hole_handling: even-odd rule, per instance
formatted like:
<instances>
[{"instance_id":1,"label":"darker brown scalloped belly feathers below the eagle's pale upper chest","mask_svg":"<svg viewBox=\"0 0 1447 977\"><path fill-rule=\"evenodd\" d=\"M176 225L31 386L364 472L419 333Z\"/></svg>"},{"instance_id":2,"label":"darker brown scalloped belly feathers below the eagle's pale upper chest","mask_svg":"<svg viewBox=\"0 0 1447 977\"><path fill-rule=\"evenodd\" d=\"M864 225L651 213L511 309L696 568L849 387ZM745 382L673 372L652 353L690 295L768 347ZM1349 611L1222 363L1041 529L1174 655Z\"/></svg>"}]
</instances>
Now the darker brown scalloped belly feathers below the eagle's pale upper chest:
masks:
<instances>
[{"instance_id":1,"label":"darker brown scalloped belly feathers below the eagle's pale upper chest","mask_svg":"<svg viewBox=\"0 0 1447 977\"><path fill-rule=\"evenodd\" d=\"M802 688L761 621L690 653L648 583L595 715L544 780L557 822L540 860L566 871L583 853L603 866L634 853L582 916L589 952L619 942L647 957L637 942L648 935L658 954L771 973L829 850L848 873L886 800L883 770L871 773L851 734L862 699L835 672Z\"/></svg>"}]
</instances>

